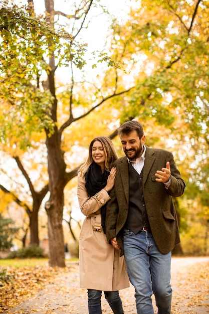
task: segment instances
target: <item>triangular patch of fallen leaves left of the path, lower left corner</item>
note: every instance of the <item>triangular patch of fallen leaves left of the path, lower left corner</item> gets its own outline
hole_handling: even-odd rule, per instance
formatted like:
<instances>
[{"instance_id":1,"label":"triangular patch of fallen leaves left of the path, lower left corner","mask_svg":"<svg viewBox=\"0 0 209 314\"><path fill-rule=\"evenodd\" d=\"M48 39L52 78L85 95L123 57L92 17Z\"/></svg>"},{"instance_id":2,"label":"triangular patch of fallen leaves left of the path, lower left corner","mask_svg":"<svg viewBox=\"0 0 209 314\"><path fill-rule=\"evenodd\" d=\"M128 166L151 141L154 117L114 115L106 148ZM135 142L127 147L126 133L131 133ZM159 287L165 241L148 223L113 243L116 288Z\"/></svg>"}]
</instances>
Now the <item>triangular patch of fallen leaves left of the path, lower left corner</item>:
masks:
<instances>
[{"instance_id":1,"label":"triangular patch of fallen leaves left of the path, lower left corner","mask_svg":"<svg viewBox=\"0 0 209 314\"><path fill-rule=\"evenodd\" d=\"M20 302L36 294L45 285L53 282L56 275L66 271L65 268L36 267L2 267L0 282L0 313L17 306Z\"/></svg>"}]
</instances>

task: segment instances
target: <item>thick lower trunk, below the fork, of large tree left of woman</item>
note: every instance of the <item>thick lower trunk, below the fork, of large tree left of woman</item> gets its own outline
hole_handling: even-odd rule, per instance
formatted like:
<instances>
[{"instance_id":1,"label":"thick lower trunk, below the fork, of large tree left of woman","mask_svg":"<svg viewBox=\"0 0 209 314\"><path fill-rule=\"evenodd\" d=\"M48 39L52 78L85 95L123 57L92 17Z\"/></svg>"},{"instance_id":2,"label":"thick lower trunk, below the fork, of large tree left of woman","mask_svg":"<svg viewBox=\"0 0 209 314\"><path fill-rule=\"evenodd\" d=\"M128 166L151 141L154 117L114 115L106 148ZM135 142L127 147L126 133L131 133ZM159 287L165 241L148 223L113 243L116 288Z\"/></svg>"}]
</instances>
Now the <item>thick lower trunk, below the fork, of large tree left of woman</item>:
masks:
<instances>
[{"instance_id":1,"label":"thick lower trunk, below the fork, of large tree left of woman","mask_svg":"<svg viewBox=\"0 0 209 314\"><path fill-rule=\"evenodd\" d=\"M48 173L50 199L45 204L48 215L49 264L65 267L65 247L63 234L64 188L66 185L63 152L57 128L51 137L47 136Z\"/></svg>"}]
</instances>

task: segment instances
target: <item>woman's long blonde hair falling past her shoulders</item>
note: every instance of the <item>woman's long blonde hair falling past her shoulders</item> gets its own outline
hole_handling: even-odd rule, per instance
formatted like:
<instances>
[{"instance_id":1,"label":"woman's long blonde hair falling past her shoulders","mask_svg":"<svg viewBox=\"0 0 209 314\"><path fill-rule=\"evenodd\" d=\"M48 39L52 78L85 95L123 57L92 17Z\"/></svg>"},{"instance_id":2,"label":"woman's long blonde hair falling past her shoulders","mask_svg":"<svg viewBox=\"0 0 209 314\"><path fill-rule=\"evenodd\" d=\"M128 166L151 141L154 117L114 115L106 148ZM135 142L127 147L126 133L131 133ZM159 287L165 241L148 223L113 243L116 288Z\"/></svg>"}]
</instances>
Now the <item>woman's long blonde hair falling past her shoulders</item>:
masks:
<instances>
[{"instance_id":1,"label":"woman's long blonde hair falling past her shoulders","mask_svg":"<svg viewBox=\"0 0 209 314\"><path fill-rule=\"evenodd\" d=\"M84 180L84 175L89 169L89 166L92 164L92 146L95 141L100 141L105 154L105 170L110 171L110 165L118 159L118 154L115 150L112 140L108 136L97 136L92 139L91 143L89 144L89 155L85 163L79 169L79 176Z\"/></svg>"}]
</instances>

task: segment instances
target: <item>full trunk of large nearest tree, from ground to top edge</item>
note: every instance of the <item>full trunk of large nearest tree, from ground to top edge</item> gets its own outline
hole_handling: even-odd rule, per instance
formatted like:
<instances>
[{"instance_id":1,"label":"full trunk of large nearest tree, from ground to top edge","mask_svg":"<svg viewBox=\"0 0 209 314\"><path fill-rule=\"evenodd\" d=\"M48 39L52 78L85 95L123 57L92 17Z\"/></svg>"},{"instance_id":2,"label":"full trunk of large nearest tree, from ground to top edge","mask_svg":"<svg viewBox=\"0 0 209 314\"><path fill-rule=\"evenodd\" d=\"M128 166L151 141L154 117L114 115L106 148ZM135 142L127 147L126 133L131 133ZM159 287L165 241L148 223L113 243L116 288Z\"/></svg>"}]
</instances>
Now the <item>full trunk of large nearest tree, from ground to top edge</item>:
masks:
<instances>
[{"instance_id":1,"label":"full trunk of large nearest tree, from ground to top edge","mask_svg":"<svg viewBox=\"0 0 209 314\"><path fill-rule=\"evenodd\" d=\"M54 28L54 0L45 0L47 20ZM53 38L52 38L53 41ZM49 48L51 44L49 43ZM48 235L49 235L49 264L51 266L65 267L65 245L63 234L63 207L64 188L66 185L66 165L64 155L61 150L61 134L57 128L57 98L55 94L55 58L51 53L49 58L50 71L48 73L48 86L54 97L52 103L51 118L55 122L54 133L49 134L46 129L46 145L48 150L48 174L49 174L49 201L45 204L48 215Z\"/></svg>"}]
</instances>

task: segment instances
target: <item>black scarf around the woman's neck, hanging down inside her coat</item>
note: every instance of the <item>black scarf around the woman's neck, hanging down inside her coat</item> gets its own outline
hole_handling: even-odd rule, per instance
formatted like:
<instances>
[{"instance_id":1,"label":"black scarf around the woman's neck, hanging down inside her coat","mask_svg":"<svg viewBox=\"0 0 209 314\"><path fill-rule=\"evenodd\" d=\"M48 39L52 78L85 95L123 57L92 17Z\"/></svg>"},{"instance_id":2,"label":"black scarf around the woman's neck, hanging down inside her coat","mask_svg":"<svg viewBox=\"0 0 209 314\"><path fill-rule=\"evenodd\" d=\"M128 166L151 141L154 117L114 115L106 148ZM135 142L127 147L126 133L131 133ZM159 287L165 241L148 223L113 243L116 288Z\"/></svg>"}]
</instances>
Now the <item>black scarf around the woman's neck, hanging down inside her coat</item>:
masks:
<instances>
[{"instance_id":1,"label":"black scarf around the woman's neck, hanging down inside her coat","mask_svg":"<svg viewBox=\"0 0 209 314\"><path fill-rule=\"evenodd\" d=\"M94 162L89 166L87 173L85 173L85 187L90 197L94 196L106 186L109 174L110 173L106 170L102 173L101 167ZM102 229L104 233L106 232L105 216L106 204L101 207Z\"/></svg>"}]
</instances>

